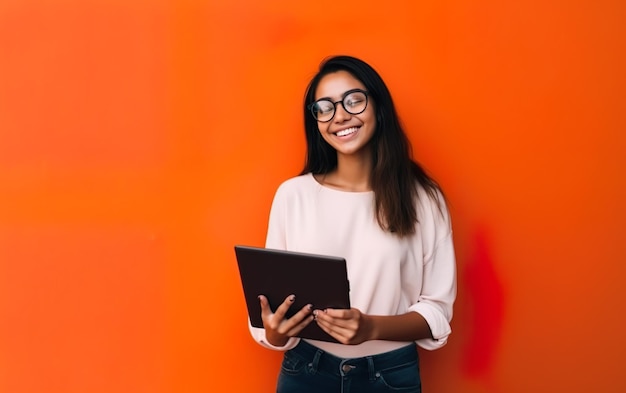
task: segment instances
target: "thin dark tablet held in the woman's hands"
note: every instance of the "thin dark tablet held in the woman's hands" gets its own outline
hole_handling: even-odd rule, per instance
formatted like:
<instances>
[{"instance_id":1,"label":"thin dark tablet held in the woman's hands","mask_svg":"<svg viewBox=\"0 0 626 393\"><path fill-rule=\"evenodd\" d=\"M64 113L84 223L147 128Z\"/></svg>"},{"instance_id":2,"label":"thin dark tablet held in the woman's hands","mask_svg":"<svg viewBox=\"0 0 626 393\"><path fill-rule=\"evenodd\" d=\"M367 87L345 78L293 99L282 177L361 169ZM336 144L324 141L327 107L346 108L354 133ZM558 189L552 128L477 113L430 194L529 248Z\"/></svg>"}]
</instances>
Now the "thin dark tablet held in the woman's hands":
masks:
<instances>
[{"instance_id":1,"label":"thin dark tablet held in the woman's hands","mask_svg":"<svg viewBox=\"0 0 626 393\"><path fill-rule=\"evenodd\" d=\"M314 308L350 308L350 285L346 260L340 257L235 246L239 275L250 323L262 328L259 295L269 300L272 311L289 295L296 295L287 317L307 304ZM298 335L321 341L337 342L317 323L311 322Z\"/></svg>"}]
</instances>

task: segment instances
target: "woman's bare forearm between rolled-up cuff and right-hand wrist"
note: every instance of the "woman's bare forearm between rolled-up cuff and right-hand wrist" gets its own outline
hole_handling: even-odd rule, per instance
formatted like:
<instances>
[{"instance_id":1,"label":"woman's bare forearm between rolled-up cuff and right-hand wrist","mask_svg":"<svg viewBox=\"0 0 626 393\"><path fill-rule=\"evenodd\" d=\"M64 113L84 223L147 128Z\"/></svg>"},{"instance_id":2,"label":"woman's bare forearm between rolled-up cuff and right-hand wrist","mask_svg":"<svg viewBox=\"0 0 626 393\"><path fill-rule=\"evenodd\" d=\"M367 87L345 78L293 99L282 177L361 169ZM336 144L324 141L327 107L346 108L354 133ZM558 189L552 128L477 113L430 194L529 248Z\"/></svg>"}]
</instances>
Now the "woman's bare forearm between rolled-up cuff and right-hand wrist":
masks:
<instances>
[{"instance_id":1,"label":"woman's bare forearm between rolled-up cuff and right-hand wrist","mask_svg":"<svg viewBox=\"0 0 626 393\"><path fill-rule=\"evenodd\" d=\"M433 338L428 323L417 312L401 315L367 315L371 340L416 341Z\"/></svg>"}]
</instances>

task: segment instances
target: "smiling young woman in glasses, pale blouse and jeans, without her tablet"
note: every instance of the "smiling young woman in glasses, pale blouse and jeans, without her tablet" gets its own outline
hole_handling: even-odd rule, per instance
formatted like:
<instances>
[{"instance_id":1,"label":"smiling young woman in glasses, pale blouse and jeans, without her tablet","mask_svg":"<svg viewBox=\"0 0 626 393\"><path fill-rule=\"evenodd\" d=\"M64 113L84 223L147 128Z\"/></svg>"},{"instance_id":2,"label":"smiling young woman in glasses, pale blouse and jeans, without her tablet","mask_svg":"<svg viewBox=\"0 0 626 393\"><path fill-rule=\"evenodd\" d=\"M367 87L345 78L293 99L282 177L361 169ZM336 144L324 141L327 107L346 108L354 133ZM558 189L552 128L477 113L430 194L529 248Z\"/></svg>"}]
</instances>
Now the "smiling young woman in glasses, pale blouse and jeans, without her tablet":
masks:
<instances>
[{"instance_id":1,"label":"smiling young woman in glasses, pale blouse and jeans, without her tablet","mask_svg":"<svg viewBox=\"0 0 626 393\"><path fill-rule=\"evenodd\" d=\"M456 268L437 183L412 160L389 90L365 62L327 59L304 102L302 173L277 190L267 248L344 257L349 310L308 305L291 318L260 296L262 345L285 351L277 391L421 392L417 346L451 333ZM320 283L320 291L324 283ZM317 323L339 343L305 340Z\"/></svg>"}]
</instances>

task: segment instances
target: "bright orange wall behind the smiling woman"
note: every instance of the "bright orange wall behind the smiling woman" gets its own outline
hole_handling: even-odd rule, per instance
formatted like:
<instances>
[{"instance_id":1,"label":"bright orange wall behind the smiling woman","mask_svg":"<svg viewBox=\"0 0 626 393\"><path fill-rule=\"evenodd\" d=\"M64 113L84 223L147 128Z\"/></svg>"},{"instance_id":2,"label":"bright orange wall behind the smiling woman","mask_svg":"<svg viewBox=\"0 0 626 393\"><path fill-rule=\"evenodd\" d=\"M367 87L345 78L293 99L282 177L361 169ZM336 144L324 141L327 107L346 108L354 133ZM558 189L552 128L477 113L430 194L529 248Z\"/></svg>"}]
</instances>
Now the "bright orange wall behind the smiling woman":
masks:
<instances>
[{"instance_id":1,"label":"bright orange wall behind the smiling woman","mask_svg":"<svg viewBox=\"0 0 626 393\"><path fill-rule=\"evenodd\" d=\"M625 9L2 0L0 392L272 391L232 247L263 244L339 53L382 74L450 200L425 391L625 391Z\"/></svg>"}]
</instances>

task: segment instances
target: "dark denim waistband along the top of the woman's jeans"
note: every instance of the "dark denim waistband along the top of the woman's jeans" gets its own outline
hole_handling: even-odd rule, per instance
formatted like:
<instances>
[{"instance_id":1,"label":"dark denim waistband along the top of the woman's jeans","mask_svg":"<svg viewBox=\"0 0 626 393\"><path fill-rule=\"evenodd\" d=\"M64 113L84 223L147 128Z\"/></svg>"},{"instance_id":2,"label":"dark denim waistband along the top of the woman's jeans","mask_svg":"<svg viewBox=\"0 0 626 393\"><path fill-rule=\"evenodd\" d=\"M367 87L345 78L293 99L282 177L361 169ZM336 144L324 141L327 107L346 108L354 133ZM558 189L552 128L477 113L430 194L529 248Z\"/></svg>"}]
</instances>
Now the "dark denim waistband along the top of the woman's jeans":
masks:
<instances>
[{"instance_id":1,"label":"dark denim waistband along the top of the woman's jeans","mask_svg":"<svg viewBox=\"0 0 626 393\"><path fill-rule=\"evenodd\" d=\"M377 355L351 359L343 359L324 352L304 340L300 340L300 343L291 351L309 362L309 367L313 370L341 376L369 374L370 378L374 378L379 371L418 360L415 344Z\"/></svg>"}]
</instances>

